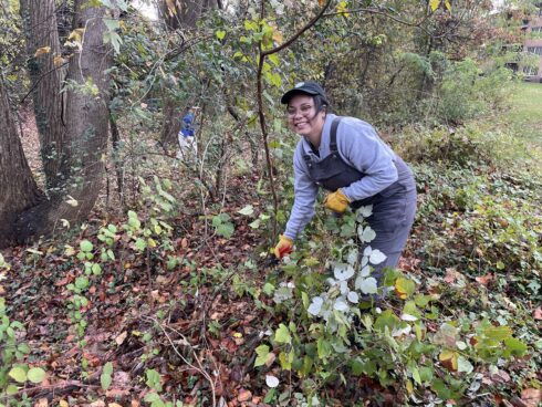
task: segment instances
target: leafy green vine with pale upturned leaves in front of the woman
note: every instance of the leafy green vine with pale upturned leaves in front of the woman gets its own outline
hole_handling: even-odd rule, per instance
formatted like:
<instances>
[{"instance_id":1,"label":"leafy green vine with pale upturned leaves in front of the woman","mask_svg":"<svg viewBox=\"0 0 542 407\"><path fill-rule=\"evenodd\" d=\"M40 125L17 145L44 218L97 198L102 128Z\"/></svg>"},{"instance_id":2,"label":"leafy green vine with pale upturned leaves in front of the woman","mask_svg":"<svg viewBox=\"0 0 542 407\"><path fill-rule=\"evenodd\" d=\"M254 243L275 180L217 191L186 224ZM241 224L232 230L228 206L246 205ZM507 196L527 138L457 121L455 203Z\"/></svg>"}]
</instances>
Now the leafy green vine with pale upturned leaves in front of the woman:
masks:
<instances>
[{"instance_id":1,"label":"leafy green vine with pale upturned leaves in front of the woman","mask_svg":"<svg viewBox=\"0 0 542 407\"><path fill-rule=\"evenodd\" d=\"M265 378L265 403L285 406L299 397L291 394L292 374L306 406L319 405L326 385L347 387L352 376L383 387L398 385L402 397L414 403L459 399L480 388L481 366L491 372L527 353L508 326L473 315L440 315L438 294L418 293L415 279L398 270L386 270L378 286L372 273L386 257L371 248L376 237L366 222L371 213L372 207L362 207L327 222L346 243L331 248L324 273L320 261L300 253L282 268L288 281L273 284L273 276L268 279L264 292L272 295L277 306L271 310L283 322L256 349L254 366L273 373ZM365 246L362 253L358 242ZM322 250L314 242L312 249ZM274 375L290 383L281 384Z\"/></svg>"}]
</instances>

